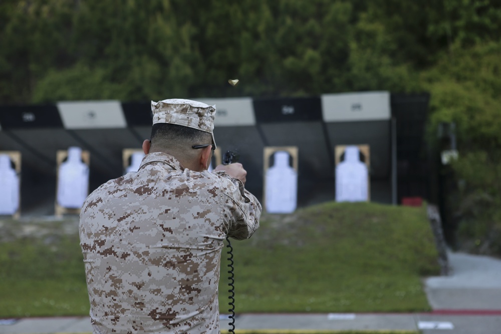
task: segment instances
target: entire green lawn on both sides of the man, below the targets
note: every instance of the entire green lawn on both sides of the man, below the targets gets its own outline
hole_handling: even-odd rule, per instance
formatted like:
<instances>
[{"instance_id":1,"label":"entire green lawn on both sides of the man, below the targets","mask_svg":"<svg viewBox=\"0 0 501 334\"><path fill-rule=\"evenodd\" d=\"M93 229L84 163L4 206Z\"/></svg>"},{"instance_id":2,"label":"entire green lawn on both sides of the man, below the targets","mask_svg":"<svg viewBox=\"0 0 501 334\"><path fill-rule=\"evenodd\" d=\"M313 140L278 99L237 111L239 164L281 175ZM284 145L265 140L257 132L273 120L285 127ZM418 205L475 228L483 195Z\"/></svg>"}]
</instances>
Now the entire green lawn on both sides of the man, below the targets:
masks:
<instances>
[{"instance_id":1,"label":"entire green lawn on both sides of the man, below the targets","mask_svg":"<svg viewBox=\"0 0 501 334\"><path fill-rule=\"evenodd\" d=\"M78 235L58 233L63 222L0 224L2 233L52 228L0 242L0 317L88 314ZM251 239L231 244L237 313L426 311L421 279L439 273L424 208L328 202L266 214ZM228 313L226 250L221 313Z\"/></svg>"}]
</instances>

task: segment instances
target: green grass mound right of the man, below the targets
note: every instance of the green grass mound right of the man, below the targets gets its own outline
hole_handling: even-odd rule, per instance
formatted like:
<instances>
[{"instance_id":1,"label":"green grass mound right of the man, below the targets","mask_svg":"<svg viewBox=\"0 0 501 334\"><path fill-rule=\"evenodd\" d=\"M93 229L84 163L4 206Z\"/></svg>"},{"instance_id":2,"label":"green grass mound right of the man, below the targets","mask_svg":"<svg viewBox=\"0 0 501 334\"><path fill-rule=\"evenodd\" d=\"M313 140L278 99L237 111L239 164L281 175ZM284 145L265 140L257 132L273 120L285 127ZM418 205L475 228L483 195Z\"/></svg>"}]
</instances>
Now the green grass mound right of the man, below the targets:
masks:
<instances>
[{"instance_id":1,"label":"green grass mound right of the man, below the targets","mask_svg":"<svg viewBox=\"0 0 501 334\"><path fill-rule=\"evenodd\" d=\"M329 202L262 218L250 240L231 243L236 312L429 310L421 278L439 266L424 208Z\"/></svg>"}]
</instances>

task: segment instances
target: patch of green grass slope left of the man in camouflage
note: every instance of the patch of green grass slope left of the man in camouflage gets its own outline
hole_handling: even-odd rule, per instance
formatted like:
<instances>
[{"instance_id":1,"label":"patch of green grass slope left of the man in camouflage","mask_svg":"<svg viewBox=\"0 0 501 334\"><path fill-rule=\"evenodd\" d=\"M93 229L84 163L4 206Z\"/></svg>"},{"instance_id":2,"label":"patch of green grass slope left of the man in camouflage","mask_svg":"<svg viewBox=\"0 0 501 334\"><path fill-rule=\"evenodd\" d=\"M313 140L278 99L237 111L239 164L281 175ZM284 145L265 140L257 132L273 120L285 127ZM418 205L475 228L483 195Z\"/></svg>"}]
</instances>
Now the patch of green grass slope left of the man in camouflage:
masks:
<instances>
[{"instance_id":1,"label":"patch of green grass slope left of the man in camouflage","mask_svg":"<svg viewBox=\"0 0 501 334\"><path fill-rule=\"evenodd\" d=\"M44 232L12 233L31 227ZM78 235L62 229L62 222L2 223L0 318L89 314Z\"/></svg>"}]
</instances>

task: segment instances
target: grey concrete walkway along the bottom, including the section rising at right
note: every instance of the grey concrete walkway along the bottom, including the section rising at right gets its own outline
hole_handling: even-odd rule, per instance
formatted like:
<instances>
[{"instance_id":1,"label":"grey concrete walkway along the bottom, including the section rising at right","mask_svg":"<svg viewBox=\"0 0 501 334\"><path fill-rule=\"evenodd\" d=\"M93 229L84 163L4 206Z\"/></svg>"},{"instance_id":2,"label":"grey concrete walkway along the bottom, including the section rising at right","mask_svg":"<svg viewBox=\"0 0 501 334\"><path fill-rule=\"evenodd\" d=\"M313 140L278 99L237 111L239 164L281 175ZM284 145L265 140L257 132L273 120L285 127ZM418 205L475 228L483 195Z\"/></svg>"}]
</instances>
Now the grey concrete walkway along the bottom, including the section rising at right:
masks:
<instances>
[{"instance_id":1,"label":"grey concrete walkway along the bottom, including the section rising at right","mask_svg":"<svg viewBox=\"0 0 501 334\"><path fill-rule=\"evenodd\" d=\"M240 314L236 333L421 330L423 334L501 334L501 260L449 253L451 274L425 279L430 313ZM1 302L1 301L0 301ZM90 333L88 317L0 320L0 334ZM229 328L224 315L221 330Z\"/></svg>"}]
</instances>

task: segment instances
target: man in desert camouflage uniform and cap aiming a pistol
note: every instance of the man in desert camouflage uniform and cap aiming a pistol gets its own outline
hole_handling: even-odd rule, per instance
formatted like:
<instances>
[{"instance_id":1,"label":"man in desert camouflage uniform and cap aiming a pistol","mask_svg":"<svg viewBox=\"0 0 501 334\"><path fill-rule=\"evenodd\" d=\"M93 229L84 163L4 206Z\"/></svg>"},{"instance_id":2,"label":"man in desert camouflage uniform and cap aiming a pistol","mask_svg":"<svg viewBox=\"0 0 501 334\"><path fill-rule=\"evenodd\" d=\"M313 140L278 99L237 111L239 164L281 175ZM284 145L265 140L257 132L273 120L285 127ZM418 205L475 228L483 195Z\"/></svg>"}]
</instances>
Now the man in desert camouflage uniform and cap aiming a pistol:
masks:
<instances>
[{"instance_id":1,"label":"man in desert camouflage uniform and cap aiming a pistol","mask_svg":"<svg viewBox=\"0 0 501 334\"><path fill-rule=\"evenodd\" d=\"M241 164L207 171L213 106L173 99L152 111L138 172L100 186L80 215L93 330L218 333L223 240L249 238L261 204Z\"/></svg>"}]
</instances>

